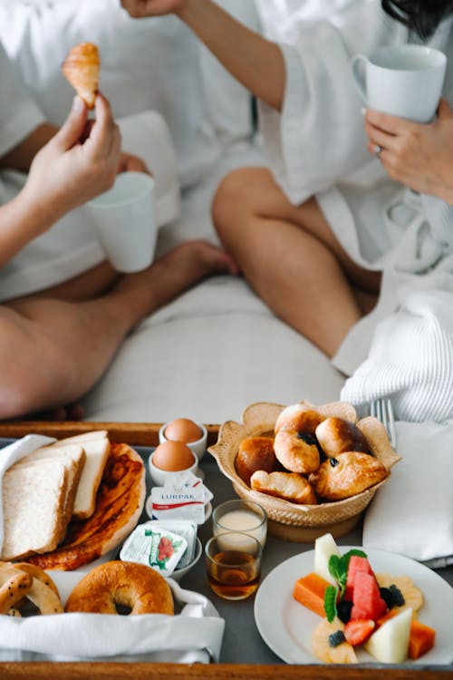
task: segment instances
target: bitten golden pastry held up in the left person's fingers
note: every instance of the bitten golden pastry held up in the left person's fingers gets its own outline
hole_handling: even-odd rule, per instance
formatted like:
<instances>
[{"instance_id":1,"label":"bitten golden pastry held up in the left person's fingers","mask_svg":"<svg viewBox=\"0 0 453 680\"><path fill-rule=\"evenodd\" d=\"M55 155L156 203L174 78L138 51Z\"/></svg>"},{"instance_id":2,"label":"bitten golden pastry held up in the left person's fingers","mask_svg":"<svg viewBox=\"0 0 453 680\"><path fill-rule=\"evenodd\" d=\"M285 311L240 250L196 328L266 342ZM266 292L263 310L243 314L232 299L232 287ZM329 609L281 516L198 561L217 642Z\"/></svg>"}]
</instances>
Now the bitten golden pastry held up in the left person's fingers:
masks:
<instances>
[{"instance_id":1,"label":"bitten golden pastry held up in the left person's fingers","mask_svg":"<svg viewBox=\"0 0 453 680\"><path fill-rule=\"evenodd\" d=\"M98 48L92 43L74 45L62 65L63 74L89 109L94 108L100 65Z\"/></svg>"}]
</instances>

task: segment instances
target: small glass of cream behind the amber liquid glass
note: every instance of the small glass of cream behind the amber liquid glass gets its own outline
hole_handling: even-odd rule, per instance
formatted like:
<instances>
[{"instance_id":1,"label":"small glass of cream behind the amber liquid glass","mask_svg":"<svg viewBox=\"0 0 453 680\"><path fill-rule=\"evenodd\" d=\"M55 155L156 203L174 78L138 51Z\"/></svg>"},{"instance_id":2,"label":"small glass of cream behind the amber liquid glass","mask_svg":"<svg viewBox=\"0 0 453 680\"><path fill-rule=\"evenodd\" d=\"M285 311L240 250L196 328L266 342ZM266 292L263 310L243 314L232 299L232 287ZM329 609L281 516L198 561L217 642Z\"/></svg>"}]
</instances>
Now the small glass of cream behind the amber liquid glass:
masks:
<instances>
[{"instance_id":1,"label":"small glass of cream behind the amber liquid glass","mask_svg":"<svg viewBox=\"0 0 453 680\"><path fill-rule=\"evenodd\" d=\"M212 530L214 536L229 531L236 531L254 536L265 547L267 534L267 513L253 500L226 500L217 505L212 513Z\"/></svg>"}]
</instances>

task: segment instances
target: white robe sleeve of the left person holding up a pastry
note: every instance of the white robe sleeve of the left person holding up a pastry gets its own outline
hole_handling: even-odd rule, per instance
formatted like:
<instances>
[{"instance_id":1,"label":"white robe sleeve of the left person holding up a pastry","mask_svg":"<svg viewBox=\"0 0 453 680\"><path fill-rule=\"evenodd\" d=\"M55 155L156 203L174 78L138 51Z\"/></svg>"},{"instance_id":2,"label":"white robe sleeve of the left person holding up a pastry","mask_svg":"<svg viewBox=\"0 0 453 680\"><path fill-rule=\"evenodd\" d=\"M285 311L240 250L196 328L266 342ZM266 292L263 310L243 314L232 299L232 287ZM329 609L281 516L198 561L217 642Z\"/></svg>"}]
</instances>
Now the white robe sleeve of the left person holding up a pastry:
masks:
<instances>
[{"instance_id":1,"label":"white robe sleeve of the left person holding up a pastry","mask_svg":"<svg viewBox=\"0 0 453 680\"><path fill-rule=\"evenodd\" d=\"M43 113L24 92L22 84L0 44L0 155L13 149L44 121Z\"/></svg>"}]
</instances>

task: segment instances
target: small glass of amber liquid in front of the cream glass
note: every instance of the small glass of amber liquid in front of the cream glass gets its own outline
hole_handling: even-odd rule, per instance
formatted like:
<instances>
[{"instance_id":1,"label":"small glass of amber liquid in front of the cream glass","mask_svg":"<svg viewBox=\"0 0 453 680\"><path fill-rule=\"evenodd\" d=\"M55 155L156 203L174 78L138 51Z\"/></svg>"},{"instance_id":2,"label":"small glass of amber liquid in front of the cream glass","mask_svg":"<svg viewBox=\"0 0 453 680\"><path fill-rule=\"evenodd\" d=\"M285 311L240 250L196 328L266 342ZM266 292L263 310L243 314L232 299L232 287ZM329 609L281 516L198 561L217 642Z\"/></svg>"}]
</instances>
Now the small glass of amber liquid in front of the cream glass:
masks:
<instances>
[{"instance_id":1,"label":"small glass of amber liquid in front of the cream glass","mask_svg":"<svg viewBox=\"0 0 453 680\"><path fill-rule=\"evenodd\" d=\"M213 536L205 548L209 586L224 599L246 599L258 588L262 553L259 540L243 531Z\"/></svg>"}]
</instances>

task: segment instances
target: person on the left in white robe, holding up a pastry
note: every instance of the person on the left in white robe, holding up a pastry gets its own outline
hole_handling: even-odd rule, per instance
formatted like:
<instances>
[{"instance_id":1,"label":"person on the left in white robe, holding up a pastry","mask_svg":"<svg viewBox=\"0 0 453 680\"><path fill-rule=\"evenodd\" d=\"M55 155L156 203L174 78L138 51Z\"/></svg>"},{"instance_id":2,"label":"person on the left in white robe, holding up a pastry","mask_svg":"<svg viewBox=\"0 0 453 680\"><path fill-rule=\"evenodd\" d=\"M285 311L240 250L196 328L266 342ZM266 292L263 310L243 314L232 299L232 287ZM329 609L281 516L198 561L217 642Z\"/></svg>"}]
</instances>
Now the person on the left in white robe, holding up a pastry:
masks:
<instances>
[{"instance_id":1,"label":"person on the left in white robe, holding up a pastry","mask_svg":"<svg viewBox=\"0 0 453 680\"><path fill-rule=\"evenodd\" d=\"M119 170L146 166L120 151L109 102L98 94L95 121L87 125L87 108L76 97L58 129L24 92L2 49L0 73L0 419L6 419L73 403L145 316L207 274L236 267L219 248L190 241L140 272L116 272L93 243L80 207L110 189ZM23 256L28 270L14 270Z\"/></svg>"}]
</instances>

